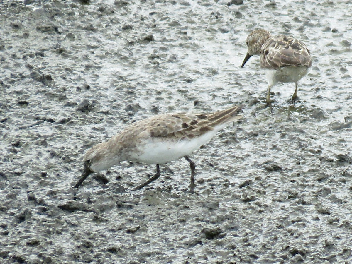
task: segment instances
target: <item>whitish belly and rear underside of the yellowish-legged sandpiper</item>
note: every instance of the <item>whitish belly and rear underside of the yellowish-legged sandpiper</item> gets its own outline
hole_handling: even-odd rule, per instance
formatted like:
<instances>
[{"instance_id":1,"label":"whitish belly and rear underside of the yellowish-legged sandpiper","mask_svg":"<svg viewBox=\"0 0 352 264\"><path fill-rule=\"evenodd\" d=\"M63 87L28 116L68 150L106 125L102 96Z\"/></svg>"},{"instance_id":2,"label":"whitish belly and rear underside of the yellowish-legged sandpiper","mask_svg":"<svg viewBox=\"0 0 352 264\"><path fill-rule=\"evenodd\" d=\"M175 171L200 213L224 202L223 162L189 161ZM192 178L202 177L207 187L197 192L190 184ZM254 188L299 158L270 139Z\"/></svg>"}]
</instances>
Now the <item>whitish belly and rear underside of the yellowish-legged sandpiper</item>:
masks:
<instances>
[{"instance_id":1,"label":"whitish belly and rear underside of the yellowish-legged sandpiper","mask_svg":"<svg viewBox=\"0 0 352 264\"><path fill-rule=\"evenodd\" d=\"M266 78L270 84L280 83L297 83L303 76L308 73L305 66L288 66L275 70L265 69Z\"/></svg>"}]
</instances>

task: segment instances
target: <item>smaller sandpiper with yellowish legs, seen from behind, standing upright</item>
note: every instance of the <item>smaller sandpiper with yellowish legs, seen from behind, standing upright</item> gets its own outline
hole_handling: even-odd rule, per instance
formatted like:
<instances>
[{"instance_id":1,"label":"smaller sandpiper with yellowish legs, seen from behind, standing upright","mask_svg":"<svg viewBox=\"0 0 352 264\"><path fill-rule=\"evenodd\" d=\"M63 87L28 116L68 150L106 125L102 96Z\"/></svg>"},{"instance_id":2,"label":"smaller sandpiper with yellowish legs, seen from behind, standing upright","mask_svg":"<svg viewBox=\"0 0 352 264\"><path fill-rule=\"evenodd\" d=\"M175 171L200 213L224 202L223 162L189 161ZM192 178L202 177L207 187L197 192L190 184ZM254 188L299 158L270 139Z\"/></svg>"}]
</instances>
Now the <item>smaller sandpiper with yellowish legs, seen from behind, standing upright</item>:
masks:
<instances>
[{"instance_id":1,"label":"smaller sandpiper with yellowish legs, seen from behind, standing upright","mask_svg":"<svg viewBox=\"0 0 352 264\"><path fill-rule=\"evenodd\" d=\"M266 104L271 104L270 88L278 82L296 84L296 90L291 99L294 103L297 99L298 81L308 73L308 68L312 66L306 45L284 35L272 37L264 29L252 31L246 39L246 44L248 50L241 67L252 55L260 55L260 67L265 69L268 79Z\"/></svg>"}]
</instances>

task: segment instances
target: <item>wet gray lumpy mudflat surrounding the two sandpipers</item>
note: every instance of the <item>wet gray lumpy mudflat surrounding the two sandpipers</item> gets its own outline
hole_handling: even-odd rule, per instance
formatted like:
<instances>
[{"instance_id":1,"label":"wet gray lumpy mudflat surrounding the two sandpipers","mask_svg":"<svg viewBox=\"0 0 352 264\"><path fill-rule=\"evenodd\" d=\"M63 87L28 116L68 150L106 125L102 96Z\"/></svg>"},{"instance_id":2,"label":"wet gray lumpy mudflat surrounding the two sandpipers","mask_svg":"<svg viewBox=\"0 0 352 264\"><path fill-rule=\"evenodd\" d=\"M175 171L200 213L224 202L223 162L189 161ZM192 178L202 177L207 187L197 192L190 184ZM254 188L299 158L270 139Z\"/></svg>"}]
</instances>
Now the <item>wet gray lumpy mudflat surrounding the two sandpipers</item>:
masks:
<instances>
[{"instance_id":1,"label":"wet gray lumpy mudflat surrounding the two sandpipers","mask_svg":"<svg viewBox=\"0 0 352 264\"><path fill-rule=\"evenodd\" d=\"M40 2L40 4L38 4ZM351 263L348 1L1 1L0 263ZM272 91L261 27L313 66ZM155 166L81 175L86 149L153 114L245 103L140 191ZM106 179L109 180L106 183Z\"/></svg>"}]
</instances>

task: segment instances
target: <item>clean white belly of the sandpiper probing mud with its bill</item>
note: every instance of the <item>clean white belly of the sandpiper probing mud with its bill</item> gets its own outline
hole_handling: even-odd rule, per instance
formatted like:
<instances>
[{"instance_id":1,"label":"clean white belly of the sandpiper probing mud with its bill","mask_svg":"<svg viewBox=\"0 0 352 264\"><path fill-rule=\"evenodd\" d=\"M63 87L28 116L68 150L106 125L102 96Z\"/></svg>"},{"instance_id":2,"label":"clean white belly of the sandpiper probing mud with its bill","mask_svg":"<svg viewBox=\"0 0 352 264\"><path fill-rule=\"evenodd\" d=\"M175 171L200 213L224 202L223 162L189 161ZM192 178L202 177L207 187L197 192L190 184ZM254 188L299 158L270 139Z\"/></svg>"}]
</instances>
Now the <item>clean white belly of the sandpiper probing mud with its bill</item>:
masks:
<instances>
[{"instance_id":1,"label":"clean white belly of the sandpiper probing mud with its bill","mask_svg":"<svg viewBox=\"0 0 352 264\"><path fill-rule=\"evenodd\" d=\"M150 138L145 144L138 146L138 151L129 153L131 161L148 164L163 164L182 158L207 143L215 134L209 131L199 138L172 141L166 138Z\"/></svg>"}]
</instances>

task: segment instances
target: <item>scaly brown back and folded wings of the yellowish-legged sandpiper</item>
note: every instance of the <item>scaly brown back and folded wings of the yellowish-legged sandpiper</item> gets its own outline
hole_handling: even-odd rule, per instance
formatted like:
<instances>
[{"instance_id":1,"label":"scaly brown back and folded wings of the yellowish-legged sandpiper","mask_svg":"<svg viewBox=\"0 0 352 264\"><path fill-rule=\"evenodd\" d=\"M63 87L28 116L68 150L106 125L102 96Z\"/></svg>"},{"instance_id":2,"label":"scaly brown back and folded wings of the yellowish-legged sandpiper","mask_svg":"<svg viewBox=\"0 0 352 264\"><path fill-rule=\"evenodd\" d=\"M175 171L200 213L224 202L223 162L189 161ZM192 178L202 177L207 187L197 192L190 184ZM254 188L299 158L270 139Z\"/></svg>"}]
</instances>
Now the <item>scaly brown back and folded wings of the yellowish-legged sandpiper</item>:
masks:
<instances>
[{"instance_id":1,"label":"scaly brown back and folded wings of the yellowish-legged sandpiper","mask_svg":"<svg viewBox=\"0 0 352 264\"><path fill-rule=\"evenodd\" d=\"M287 66L312 66L306 45L287 36L275 36L266 40L260 50L260 67L277 69Z\"/></svg>"}]
</instances>

